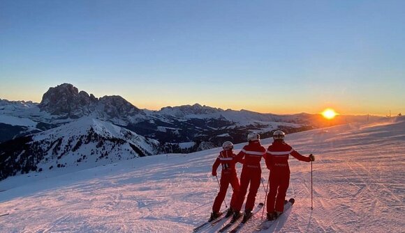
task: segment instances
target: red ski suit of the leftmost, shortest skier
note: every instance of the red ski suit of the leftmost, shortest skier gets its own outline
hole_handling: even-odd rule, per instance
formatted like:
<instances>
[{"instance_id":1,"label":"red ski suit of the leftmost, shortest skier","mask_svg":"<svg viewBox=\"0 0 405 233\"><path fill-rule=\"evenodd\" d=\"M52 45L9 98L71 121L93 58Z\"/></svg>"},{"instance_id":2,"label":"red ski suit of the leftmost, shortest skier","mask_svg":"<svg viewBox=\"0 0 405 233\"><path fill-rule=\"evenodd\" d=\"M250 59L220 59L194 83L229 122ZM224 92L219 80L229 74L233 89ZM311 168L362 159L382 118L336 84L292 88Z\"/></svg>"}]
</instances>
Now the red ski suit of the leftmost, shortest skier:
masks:
<instances>
[{"instance_id":1,"label":"red ski suit of the leftmost, shortest skier","mask_svg":"<svg viewBox=\"0 0 405 233\"><path fill-rule=\"evenodd\" d=\"M218 169L219 164L222 164L221 181L219 193L216 195L214 204L212 205L212 211L214 213L221 209L221 204L223 199L225 199L226 191L228 186L232 186L233 195L230 199L230 207L235 207L235 202L237 200L237 193L239 192L239 180L237 179L236 169L235 169L235 154L232 150L223 150L219 153L218 158L216 158L214 165L212 166L212 175L216 175L216 169Z\"/></svg>"}]
</instances>

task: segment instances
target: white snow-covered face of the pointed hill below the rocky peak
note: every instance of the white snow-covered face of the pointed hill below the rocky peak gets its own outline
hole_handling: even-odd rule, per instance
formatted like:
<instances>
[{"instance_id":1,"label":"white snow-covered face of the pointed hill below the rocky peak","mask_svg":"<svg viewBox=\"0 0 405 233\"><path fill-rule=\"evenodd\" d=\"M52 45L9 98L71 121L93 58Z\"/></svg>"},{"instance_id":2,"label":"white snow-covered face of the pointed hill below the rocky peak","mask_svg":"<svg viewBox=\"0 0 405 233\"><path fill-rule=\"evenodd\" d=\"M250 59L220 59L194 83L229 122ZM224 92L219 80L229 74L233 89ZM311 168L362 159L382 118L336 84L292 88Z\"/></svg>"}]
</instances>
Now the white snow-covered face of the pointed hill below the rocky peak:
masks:
<instances>
[{"instance_id":1,"label":"white snow-covered face of the pointed hill below the rocky peak","mask_svg":"<svg viewBox=\"0 0 405 233\"><path fill-rule=\"evenodd\" d=\"M98 145L98 141L83 142L83 138L89 136L90 129L103 138L121 139L126 143L117 146L115 143L106 140L103 143L102 150L102 154L106 154L101 156L101 154L98 154L99 150L97 150L98 147L101 147ZM159 145L157 140L145 138L128 129L117 127L110 122L89 117L82 117L74 122L33 134L32 138L34 142L40 144L40 147L43 147L44 151L47 151L47 155L36 166L43 170L49 170L50 166L53 166L55 169L61 170L61 173L94 168L140 156L138 152L133 151L129 143L140 148L145 154L156 154L156 148ZM59 144L55 143L58 140L60 140ZM80 146L73 150L73 145ZM51 149L49 149L50 146L52 146ZM59 148L56 151L59 152L60 158L58 154L54 154L55 147ZM62 151L64 151L63 156ZM63 164L64 168L56 168L59 163ZM73 168L71 168L72 166ZM30 175L42 176L41 173L30 173ZM47 173L45 172L45 174ZM13 187L10 182L6 182L6 184L8 188Z\"/></svg>"}]
</instances>

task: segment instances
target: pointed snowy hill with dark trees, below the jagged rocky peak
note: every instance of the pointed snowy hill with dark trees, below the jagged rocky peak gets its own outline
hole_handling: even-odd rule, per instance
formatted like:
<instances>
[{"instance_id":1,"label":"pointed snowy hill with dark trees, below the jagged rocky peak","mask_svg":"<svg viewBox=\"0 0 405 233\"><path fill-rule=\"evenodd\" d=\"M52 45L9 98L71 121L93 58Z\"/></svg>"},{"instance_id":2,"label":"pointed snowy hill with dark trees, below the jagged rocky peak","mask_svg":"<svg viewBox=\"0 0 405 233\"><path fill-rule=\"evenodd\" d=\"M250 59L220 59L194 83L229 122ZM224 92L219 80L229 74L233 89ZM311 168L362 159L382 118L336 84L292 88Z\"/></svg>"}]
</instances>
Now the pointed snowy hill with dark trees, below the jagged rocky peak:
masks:
<instances>
[{"instance_id":1,"label":"pointed snowy hill with dark trees, below the jagged rocky peak","mask_svg":"<svg viewBox=\"0 0 405 233\"><path fill-rule=\"evenodd\" d=\"M159 142L94 118L0 144L0 179L20 172L80 170L157 154Z\"/></svg>"}]
</instances>

